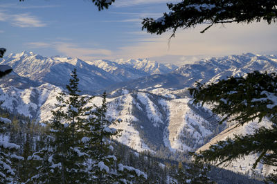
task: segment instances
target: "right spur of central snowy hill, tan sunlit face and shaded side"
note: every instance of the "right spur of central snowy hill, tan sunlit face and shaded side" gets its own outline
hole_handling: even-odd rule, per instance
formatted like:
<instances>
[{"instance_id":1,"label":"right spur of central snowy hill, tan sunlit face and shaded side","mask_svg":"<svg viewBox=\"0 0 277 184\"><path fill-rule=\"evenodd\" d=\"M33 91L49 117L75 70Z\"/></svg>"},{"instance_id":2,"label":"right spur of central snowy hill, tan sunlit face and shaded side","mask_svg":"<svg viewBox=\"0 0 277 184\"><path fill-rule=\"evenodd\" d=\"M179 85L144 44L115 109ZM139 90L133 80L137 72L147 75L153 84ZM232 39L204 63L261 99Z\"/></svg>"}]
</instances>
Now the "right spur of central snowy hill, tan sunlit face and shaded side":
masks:
<instances>
[{"instance_id":1,"label":"right spur of central snowy hill, tan sunlit face and shaded side","mask_svg":"<svg viewBox=\"0 0 277 184\"><path fill-rule=\"evenodd\" d=\"M192 151L204 144L205 137L213 134L211 129L205 127L208 121L197 115L193 109L188 107L189 98L170 100L168 107L170 109L168 136L165 138L169 140L172 149L182 151ZM193 144L184 144L184 139L191 139ZM193 145L193 146L192 146Z\"/></svg>"}]
</instances>

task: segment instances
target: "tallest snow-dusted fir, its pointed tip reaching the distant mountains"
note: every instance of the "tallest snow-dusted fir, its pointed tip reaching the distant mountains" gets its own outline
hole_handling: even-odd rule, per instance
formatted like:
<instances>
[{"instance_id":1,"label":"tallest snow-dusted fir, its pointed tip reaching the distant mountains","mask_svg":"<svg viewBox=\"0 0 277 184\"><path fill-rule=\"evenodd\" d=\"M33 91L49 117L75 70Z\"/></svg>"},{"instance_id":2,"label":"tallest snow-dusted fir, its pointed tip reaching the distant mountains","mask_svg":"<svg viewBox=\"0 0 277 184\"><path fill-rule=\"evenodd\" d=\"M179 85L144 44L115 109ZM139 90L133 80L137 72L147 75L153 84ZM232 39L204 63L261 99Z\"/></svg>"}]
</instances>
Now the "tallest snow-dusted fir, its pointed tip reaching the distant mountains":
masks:
<instances>
[{"instance_id":1,"label":"tallest snow-dusted fir, its pointed tip reaching the distant mountains","mask_svg":"<svg viewBox=\"0 0 277 184\"><path fill-rule=\"evenodd\" d=\"M90 107L84 107L91 97L78 93L79 79L74 69L69 85L69 98L66 93L57 97L56 109L52 111L50 135L46 138L46 147L30 156L29 160L40 160L37 174L30 179L36 183L85 183L84 160L87 156L82 153L82 125L84 113Z\"/></svg>"}]
</instances>

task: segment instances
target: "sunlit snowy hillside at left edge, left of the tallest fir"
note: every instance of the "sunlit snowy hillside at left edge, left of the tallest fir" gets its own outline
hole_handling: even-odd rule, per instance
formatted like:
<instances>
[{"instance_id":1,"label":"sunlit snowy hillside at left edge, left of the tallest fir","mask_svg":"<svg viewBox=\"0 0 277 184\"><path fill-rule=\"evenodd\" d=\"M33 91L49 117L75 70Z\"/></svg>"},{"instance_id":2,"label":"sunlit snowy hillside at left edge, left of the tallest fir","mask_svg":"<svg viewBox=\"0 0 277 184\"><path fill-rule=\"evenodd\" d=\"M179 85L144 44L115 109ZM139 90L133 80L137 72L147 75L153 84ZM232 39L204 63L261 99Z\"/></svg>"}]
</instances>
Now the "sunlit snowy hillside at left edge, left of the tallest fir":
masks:
<instances>
[{"instance_id":1,"label":"sunlit snowy hillside at left edge, left of the tallest fir","mask_svg":"<svg viewBox=\"0 0 277 184\"><path fill-rule=\"evenodd\" d=\"M19 113L37 120L47 120L55 107L55 97L62 90L51 84L42 84L29 89L17 89L13 86L1 88L2 107L12 113Z\"/></svg>"}]
</instances>

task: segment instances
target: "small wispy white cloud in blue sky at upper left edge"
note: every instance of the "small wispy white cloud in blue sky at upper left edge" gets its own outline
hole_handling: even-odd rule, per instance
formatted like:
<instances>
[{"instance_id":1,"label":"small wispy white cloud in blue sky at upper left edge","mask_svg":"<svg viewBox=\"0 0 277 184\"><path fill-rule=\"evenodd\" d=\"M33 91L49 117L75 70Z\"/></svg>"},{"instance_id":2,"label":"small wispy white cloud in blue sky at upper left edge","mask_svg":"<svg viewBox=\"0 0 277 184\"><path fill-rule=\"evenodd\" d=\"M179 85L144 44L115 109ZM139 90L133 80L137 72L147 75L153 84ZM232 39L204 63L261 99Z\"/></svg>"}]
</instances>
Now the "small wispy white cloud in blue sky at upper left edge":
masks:
<instances>
[{"instance_id":1,"label":"small wispy white cloud in blue sky at upper left edge","mask_svg":"<svg viewBox=\"0 0 277 184\"><path fill-rule=\"evenodd\" d=\"M8 21L12 26L21 28L38 28L46 26L38 17L30 15L29 13L10 15L6 12L0 12L0 21Z\"/></svg>"}]
</instances>

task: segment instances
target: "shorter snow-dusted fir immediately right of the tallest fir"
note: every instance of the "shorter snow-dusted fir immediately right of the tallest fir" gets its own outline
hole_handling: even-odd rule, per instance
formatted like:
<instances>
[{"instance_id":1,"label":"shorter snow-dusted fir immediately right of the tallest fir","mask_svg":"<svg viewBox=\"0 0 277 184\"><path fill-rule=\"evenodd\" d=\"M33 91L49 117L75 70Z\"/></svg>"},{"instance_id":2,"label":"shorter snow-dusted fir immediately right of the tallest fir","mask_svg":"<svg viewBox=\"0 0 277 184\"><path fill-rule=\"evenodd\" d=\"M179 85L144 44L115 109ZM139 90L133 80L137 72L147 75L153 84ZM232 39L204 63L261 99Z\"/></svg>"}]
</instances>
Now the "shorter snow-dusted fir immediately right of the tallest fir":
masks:
<instances>
[{"instance_id":1,"label":"shorter snow-dusted fir immediately right of the tallest fir","mask_svg":"<svg viewBox=\"0 0 277 184\"><path fill-rule=\"evenodd\" d=\"M107 120L107 95L102 95L101 107L94 106L89 114L89 122L84 125L84 152L89 155L91 183L133 183L144 181L146 174L134 167L118 163L113 154L111 138L119 136L120 130L108 127L120 120Z\"/></svg>"}]
</instances>

